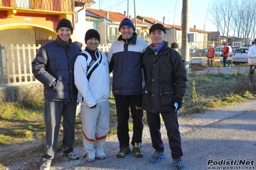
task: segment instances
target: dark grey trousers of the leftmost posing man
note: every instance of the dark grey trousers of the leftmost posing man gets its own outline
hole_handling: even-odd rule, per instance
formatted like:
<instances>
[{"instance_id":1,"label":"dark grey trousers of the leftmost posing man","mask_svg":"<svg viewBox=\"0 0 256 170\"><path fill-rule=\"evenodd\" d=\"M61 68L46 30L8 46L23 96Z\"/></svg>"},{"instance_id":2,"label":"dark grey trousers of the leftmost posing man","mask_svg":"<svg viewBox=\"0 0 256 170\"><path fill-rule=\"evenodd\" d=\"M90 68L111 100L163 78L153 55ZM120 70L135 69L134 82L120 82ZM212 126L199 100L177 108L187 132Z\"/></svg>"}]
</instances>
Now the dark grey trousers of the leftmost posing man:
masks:
<instances>
[{"instance_id":1,"label":"dark grey trousers of the leftmost posing man","mask_svg":"<svg viewBox=\"0 0 256 170\"><path fill-rule=\"evenodd\" d=\"M60 120L63 117L63 140L64 153L70 153L74 148L74 128L76 120L76 101L52 102L45 100L44 123L46 125L46 143L44 146L44 162L51 162L55 157L58 143Z\"/></svg>"}]
</instances>

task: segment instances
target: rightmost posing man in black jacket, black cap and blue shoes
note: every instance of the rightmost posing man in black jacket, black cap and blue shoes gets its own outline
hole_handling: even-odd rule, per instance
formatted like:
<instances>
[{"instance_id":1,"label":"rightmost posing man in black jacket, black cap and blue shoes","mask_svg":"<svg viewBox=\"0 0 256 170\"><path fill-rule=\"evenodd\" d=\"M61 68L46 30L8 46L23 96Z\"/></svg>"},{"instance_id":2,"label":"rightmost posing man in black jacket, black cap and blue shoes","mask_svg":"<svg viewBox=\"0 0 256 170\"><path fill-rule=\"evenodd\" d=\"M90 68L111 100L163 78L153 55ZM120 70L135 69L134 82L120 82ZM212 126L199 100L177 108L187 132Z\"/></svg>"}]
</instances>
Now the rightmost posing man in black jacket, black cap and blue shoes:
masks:
<instances>
[{"instance_id":1,"label":"rightmost posing man in black jacket, black cap and blue shoes","mask_svg":"<svg viewBox=\"0 0 256 170\"><path fill-rule=\"evenodd\" d=\"M146 110L149 132L155 153L149 160L157 163L164 158L164 143L160 134L160 114L166 125L173 165L184 169L182 144L178 129L177 111L182 107L182 98L187 88L187 76L182 57L164 41L166 28L154 24L149 29L152 43L142 58L145 88L142 95L142 109Z\"/></svg>"}]
</instances>

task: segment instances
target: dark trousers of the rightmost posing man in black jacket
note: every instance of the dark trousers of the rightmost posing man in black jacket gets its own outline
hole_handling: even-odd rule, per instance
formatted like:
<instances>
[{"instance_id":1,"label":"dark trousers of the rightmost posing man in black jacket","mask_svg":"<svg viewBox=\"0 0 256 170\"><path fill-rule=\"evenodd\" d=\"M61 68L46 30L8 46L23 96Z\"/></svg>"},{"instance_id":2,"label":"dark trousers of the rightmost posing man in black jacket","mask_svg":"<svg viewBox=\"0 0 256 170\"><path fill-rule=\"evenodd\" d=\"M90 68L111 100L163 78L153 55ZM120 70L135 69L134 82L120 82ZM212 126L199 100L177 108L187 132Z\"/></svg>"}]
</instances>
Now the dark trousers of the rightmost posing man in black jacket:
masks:
<instances>
[{"instance_id":1,"label":"dark trousers of the rightmost posing man in black jacket","mask_svg":"<svg viewBox=\"0 0 256 170\"><path fill-rule=\"evenodd\" d=\"M178 127L177 112L169 111L162 113L147 112L148 126L151 135L151 142L156 151L164 151L164 143L161 139L160 132L160 114L164 120L169 139L169 147L171 149L171 157L177 159L183 156L182 140Z\"/></svg>"}]
</instances>

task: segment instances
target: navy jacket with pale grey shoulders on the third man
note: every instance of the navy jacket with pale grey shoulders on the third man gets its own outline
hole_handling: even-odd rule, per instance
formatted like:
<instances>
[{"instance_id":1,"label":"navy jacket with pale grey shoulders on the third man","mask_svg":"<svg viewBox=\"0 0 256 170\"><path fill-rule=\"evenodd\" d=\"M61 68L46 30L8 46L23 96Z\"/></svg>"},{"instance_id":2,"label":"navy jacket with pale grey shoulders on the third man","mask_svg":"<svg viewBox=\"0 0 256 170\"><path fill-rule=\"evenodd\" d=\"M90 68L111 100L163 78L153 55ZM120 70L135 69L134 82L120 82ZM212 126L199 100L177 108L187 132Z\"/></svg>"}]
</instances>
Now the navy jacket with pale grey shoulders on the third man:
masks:
<instances>
[{"instance_id":1,"label":"navy jacket with pale grey shoulders on the third man","mask_svg":"<svg viewBox=\"0 0 256 170\"><path fill-rule=\"evenodd\" d=\"M142 95L142 54L148 43L133 33L130 40L122 35L115 40L108 52L109 72L113 71L114 95Z\"/></svg>"}]
</instances>

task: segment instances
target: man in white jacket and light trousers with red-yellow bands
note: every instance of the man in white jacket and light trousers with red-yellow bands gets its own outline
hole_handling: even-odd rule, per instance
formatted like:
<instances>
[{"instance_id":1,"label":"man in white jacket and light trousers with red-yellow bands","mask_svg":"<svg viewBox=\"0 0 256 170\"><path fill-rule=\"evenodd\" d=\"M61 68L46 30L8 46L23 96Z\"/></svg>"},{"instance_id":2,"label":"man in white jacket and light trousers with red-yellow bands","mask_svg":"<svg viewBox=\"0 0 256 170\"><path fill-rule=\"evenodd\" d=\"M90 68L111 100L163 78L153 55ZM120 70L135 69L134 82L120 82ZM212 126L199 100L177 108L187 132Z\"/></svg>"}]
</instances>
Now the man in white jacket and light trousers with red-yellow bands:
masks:
<instances>
[{"instance_id":1,"label":"man in white jacket and light trousers with red-yellow bands","mask_svg":"<svg viewBox=\"0 0 256 170\"><path fill-rule=\"evenodd\" d=\"M74 83L81 102L83 147L86 162L106 158L103 147L109 130L110 81L108 58L99 51L98 31L85 33L87 47L74 63Z\"/></svg>"}]
</instances>

